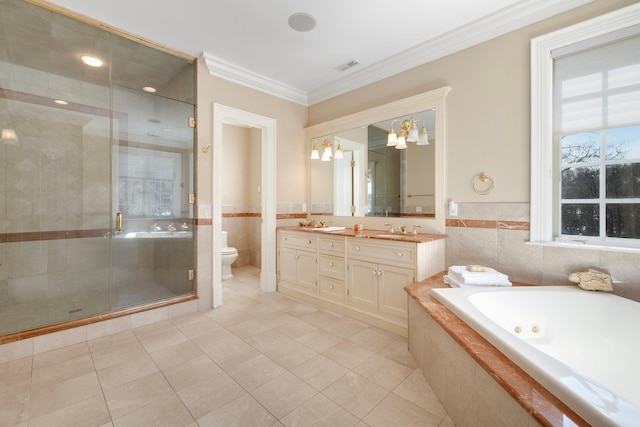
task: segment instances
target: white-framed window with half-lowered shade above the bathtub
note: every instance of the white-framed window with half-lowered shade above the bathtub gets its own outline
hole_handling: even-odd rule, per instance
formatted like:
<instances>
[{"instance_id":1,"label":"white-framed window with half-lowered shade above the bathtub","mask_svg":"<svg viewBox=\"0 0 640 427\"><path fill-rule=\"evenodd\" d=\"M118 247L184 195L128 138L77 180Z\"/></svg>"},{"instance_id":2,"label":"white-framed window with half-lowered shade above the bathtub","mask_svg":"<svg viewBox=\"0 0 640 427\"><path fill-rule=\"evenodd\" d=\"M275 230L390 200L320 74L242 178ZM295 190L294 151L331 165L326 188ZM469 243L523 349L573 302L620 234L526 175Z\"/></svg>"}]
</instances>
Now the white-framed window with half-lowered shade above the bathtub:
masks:
<instances>
[{"instance_id":1,"label":"white-framed window with half-lowered shade above the bathtub","mask_svg":"<svg viewBox=\"0 0 640 427\"><path fill-rule=\"evenodd\" d=\"M640 7L532 41L531 241L640 248Z\"/></svg>"}]
</instances>

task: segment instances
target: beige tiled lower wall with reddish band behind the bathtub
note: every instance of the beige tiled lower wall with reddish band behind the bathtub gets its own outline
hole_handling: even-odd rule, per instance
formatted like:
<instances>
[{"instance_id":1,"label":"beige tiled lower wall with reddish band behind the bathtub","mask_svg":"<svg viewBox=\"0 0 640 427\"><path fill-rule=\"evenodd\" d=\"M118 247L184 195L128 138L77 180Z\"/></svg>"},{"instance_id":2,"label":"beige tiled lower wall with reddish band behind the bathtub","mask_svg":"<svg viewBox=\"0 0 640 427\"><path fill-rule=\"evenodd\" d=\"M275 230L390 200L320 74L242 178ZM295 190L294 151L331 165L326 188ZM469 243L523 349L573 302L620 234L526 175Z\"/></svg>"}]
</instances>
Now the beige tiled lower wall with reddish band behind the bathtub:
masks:
<instances>
[{"instance_id":1,"label":"beige tiled lower wall with reddish band behind the bathtub","mask_svg":"<svg viewBox=\"0 0 640 427\"><path fill-rule=\"evenodd\" d=\"M529 221L529 203L459 203L447 218L446 266L482 264L536 285L568 285L570 273L596 268L616 294L640 300L639 254L527 244Z\"/></svg>"}]
</instances>

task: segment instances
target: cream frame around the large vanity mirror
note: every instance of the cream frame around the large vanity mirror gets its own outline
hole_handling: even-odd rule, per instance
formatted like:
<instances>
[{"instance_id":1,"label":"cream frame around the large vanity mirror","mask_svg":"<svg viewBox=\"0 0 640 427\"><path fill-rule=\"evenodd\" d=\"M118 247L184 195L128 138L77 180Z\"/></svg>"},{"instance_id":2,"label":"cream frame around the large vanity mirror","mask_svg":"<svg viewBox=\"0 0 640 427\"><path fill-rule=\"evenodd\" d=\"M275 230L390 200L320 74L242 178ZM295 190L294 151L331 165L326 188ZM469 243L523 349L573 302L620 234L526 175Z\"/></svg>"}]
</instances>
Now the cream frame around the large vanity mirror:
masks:
<instances>
[{"instance_id":1,"label":"cream frame around the large vanity mirror","mask_svg":"<svg viewBox=\"0 0 640 427\"><path fill-rule=\"evenodd\" d=\"M412 225L420 225L422 233L444 233L445 231L445 100L451 86L444 86L418 95L390 102L388 104L369 108L357 113L349 114L333 120L329 120L305 128L306 155L307 155L307 218L310 216L311 207L311 141L324 138L327 135L336 134L345 130L360 126L369 126L372 123L381 122L390 118L409 116L417 111L435 110L435 218L424 217L351 217L351 216L318 216L314 219L331 222L362 222L376 228L384 228L384 223L391 220L411 218ZM354 219L357 220L354 221ZM348 224L351 226L352 224ZM397 225L397 224L394 224ZM345 224L347 226L347 224Z\"/></svg>"}]
</instances>

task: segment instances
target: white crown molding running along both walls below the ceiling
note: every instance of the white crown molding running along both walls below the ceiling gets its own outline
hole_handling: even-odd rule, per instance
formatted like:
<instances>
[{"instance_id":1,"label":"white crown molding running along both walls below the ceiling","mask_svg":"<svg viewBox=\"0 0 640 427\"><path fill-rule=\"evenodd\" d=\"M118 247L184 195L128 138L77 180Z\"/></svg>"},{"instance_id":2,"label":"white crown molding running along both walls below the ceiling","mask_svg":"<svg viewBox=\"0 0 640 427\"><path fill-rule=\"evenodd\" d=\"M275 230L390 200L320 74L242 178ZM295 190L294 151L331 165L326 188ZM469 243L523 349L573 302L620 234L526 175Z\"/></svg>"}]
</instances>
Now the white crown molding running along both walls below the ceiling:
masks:
<instances>
[{"instance_id":1,"label":"white crown molding running along both walls below the ceiling","mask_svg":"<svg viewBox=\"0 0 640 427\"><path fill-rule=\"evenodd\" d=\"M309 92L264 77L207 52L201 57L212 76L304 106L310 106L378 82L460 50L502 36L594 0L525 0L393 55Z\"/></svg>"}]
</instances>

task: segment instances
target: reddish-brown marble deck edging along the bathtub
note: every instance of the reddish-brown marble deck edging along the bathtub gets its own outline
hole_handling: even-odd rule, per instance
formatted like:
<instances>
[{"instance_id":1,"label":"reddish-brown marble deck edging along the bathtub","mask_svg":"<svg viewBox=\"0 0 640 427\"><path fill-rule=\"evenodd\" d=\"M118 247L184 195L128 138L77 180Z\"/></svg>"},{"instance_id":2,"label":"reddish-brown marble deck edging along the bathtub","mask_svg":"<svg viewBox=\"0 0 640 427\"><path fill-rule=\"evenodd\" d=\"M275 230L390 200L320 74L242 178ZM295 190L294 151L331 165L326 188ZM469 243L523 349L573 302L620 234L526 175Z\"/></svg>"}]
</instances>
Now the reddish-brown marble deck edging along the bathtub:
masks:
<instances>
[{"instance_id":1,"label":"reddish-brown marble deck edging along the bathtub","mask_svg":"<svg viewBox=\"0 0 640 427\"><path fill-rule=\"evenodd\" d=\"M571 423L575 426L589 426L449 309L431 297L431 289L448 287L442 282L444 274L445 272L442 272L413 283L405 287L405 290L538 423L544 426L568 426ZM411 324L409 328L411 337ZM449 408L447 410L449 411Z\"/></svg>"}]
</instances>

